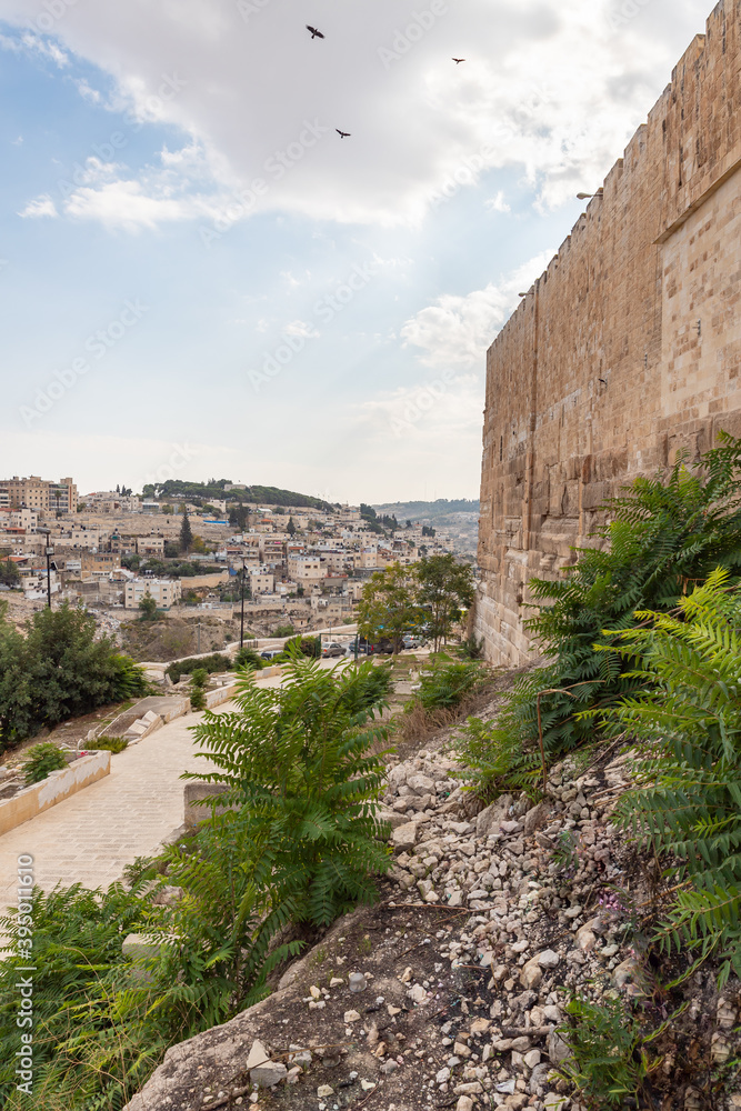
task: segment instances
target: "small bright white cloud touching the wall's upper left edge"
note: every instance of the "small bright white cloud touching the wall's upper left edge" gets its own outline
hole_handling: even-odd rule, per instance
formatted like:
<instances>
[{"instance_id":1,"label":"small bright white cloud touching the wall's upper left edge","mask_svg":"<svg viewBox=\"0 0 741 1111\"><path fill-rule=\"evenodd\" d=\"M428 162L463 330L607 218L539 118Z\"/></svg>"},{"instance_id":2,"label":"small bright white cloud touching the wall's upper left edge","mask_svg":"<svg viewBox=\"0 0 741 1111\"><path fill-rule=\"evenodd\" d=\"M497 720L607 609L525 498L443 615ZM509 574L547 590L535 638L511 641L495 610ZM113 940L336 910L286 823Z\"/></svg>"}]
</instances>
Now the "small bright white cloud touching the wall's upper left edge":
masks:
<instances>
[{"instance_id":1,"label":"small bright white cloud touching the wall's upper left edge","mask_svg":"<svg viewBox=\"0 0 741 1111\"><path fill-rule=\"evenodd\" d=\"M427 367L481 366L487 349L524 292L548 266L553 251L543 251L499 284L464 296L444 293L401 329L404 347L418 348Z\"/></svg>"}]
</instances>

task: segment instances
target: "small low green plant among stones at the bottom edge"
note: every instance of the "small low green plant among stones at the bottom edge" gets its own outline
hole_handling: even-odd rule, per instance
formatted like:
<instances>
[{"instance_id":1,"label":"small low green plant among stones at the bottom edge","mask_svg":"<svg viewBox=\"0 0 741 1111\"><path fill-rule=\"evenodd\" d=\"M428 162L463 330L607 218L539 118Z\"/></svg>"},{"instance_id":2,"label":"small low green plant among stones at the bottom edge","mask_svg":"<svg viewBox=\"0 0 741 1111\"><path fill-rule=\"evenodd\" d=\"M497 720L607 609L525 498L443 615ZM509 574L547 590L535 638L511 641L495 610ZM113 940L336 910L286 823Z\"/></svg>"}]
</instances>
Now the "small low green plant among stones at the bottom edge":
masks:
<instances>
[{"instance_id":1,"label":"small low green plant among stones at the bottom edge","mask_svg":"<svg viewBox=\"0 0 741 1111\"><path fill-rule=\"evenodd\" d=\"M648 1074L648 1057L641 1028L619 999L603 1003L573 999L567 1004L567 1025L558 1033L572 1057L560 1071L585 1098L594 1111L624 1108L628 1098L638 1100Z\"/></svg>"}]
</instances>

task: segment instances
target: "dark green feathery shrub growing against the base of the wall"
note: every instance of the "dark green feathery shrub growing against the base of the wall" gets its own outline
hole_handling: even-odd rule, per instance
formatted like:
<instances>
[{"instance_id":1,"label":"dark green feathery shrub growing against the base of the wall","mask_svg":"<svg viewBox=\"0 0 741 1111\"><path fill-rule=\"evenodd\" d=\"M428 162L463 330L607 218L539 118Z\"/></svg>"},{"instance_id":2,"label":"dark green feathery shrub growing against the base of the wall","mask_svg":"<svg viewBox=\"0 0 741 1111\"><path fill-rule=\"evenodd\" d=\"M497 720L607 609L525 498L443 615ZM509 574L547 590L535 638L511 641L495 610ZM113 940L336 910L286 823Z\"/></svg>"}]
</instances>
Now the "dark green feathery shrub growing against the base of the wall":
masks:
<instances>
[{"instance_id":1,"label":"dark green feathery shrub growing against the base of the wall","mask_svg":"<svg viewBox=\"0 0 741 1111\"><path fill-rule=\"evenodd\" d=\"M549 760L602 735L603 714L640 689L618 651L598 652L603 629L634 624L637 610L668 612L688 582L717 565L741 565L741 441L721 433L690 473L681 460L665 480L637 479L603 507L612 523L594 533L600 547L578 549L565 579L532 579L538 615L527 622L553 661L520 677L499 719L463 749L469 778L482 794L538 777L538 695Z\"/></svg>"}]
</instances>

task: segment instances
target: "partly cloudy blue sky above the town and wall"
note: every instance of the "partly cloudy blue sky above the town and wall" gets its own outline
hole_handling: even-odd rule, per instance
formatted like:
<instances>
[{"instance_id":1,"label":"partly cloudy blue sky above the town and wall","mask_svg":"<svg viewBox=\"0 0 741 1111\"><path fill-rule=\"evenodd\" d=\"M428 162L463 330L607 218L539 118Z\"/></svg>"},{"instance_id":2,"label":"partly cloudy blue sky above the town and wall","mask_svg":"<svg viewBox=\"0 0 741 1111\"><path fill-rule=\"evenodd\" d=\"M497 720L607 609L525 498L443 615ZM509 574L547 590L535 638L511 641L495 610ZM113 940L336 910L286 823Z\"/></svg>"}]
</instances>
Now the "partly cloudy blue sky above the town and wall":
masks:
<instances>
[{"instance_id":1,"label":"partly cloudy blue sky above the town and wall","mask_svg":"<svg viewBox=\"0 0 741 1111\"><path fill-rule=\"evenodd\" d=\"M0 478L478 497L487 348L710 7L0 0Z\"/></svg>"}]
</instances>

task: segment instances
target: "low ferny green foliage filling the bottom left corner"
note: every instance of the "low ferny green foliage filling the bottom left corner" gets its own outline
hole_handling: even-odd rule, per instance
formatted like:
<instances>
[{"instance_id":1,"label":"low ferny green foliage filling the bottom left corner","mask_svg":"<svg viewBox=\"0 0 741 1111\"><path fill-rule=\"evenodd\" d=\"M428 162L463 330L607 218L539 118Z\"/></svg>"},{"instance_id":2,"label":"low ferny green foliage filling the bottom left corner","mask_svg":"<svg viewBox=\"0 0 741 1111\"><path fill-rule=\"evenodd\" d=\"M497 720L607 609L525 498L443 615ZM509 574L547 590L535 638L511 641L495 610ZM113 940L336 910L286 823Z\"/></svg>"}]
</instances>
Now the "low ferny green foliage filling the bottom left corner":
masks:
<instances>
[{"instance_id":1,"label":"low ferny green foliage filling the bottom left corner","mask_svg":"<svg viewBox=\"0 0 741 1111\"><path fill-rule=\"evenodd\" d=\"M152 905L147 869L131 890L36 890L34 1108L121 1111L169 1045L257 1002L272 968L298 951L296 942L268 951L293 904L278 904L264 875L256 884L239 815L207 823L192 845L186 859L170 850L168 881L186 889L176 907ZM18 955L18 917L1 919L0 929L9 941L0 961L0 1104L26 1111L14 1069L17 984L28 961ZM159 953L133 964L121 952L129 932L159 940Z\"/></svg>"}]
</instances>

